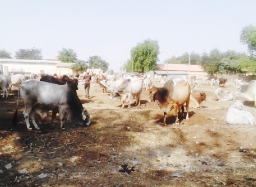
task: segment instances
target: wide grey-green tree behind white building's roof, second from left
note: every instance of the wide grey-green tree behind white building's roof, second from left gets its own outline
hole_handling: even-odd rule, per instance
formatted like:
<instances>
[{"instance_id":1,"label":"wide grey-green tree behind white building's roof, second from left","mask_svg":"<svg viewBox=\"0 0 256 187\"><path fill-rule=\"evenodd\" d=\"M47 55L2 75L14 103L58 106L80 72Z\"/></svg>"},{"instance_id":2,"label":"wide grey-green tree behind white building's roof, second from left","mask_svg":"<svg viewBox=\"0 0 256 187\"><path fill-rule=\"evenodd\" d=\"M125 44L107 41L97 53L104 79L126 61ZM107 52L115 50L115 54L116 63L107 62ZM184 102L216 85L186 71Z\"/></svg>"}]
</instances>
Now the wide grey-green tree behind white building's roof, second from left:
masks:
<instances>
[{"instance_id":1,"label":"wide grey-green tree behind white building's roof, second from left","mask_svg":"<svg viewBox=\"0 0 256 187\"><path fill-rule=\"evenodd\" d=\"M30 60L41 60L42 52L41 49L32 48L32 49L19 49L15 51L16 59L30 59Z\"/></svg>"}]
</instances>

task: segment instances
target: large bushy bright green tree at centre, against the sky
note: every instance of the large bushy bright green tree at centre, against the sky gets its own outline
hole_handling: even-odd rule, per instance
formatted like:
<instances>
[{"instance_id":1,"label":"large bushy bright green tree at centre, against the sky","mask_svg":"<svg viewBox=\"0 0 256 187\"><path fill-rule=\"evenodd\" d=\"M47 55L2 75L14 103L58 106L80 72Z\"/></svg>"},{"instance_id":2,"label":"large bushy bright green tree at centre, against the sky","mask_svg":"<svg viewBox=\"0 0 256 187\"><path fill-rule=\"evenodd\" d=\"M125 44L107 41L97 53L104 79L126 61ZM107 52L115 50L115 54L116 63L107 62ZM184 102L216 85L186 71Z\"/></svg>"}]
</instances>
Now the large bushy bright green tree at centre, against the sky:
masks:
<instances>
[{"instance_id":1,"label":"large bushy bright green tree at centre, against the sky","mask_svg":"<svg viewBox=\"0 0 256 187\"><path fill-rule=\"evenodd\" d=\"M157 69L156 62L159 55L158 41L144 40L131 49L131 60L133 70L142 72Z\"/></svg>"}]
</instances>

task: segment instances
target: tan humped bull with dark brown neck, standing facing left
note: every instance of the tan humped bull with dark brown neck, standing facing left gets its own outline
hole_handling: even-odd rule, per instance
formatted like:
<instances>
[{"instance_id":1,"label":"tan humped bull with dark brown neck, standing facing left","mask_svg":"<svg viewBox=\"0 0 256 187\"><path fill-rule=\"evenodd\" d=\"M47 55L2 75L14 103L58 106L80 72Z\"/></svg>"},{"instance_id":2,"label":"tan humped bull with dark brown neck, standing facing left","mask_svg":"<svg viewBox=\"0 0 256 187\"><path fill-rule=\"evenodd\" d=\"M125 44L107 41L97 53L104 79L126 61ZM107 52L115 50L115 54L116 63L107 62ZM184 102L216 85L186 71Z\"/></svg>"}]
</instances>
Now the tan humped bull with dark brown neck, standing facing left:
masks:
<instances>
[{"instance_id":1,"label":"tan humped bull with dark brown neck, standing facing left","mask_svg":"<svg viewBox=\"0 0 256 187\"><path fill-rule=\"evenodd\" d=\"M188 119L190 93L191 88L189 83L184 80L177 82L176 85L174 85L174 82L170 80L165 83L164 87L157 88L156 93L153 95L153 101L158 100L160 109L164 111L164 124L167 113L172 109L174 109L176 123L179 123L178 109L180 109L185 103L187 109L186 119Z\"/></svg>"}]
</instances>

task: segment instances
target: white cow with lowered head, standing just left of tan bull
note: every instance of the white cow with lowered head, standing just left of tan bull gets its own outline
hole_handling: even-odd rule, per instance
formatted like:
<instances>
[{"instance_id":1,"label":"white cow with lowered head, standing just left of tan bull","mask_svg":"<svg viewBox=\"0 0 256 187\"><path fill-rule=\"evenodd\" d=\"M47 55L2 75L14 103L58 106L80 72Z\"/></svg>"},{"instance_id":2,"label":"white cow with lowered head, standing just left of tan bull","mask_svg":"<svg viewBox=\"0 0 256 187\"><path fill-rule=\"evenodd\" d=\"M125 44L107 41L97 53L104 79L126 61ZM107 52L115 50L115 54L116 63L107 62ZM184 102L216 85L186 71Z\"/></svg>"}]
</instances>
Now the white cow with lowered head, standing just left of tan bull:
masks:
<instances>
[{"instance_id":1,"label":"white cow with lowered head, standing just left of tan bull","mask_svg":"<svg viewBox=\"0 0 256 187\"><path fill-rule=\"evenodd\" d=\"M120 96L119 93L123 93L121 99L123 101L122 107L124 107L124 101L126 100L126 96L128 96L128 108L130 108L132 104L131 96L136 96L136 105L141 105L140 97L143 89L143 83L141 82L141 80L138 79L131 81L130 79L121 79L113 81L110 88L112 88L110 93L110 100L112 100L114 97Z\"/></svg>"}]
</instances>

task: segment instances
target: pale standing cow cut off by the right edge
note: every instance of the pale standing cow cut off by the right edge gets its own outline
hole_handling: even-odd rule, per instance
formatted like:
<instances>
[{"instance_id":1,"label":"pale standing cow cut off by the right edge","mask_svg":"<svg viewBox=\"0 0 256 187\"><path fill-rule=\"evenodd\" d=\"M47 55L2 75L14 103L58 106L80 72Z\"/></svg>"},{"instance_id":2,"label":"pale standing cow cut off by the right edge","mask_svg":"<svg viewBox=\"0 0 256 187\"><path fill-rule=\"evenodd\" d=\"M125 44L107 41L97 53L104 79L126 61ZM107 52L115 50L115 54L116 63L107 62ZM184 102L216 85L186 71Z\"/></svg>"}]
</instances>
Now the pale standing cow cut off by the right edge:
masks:
<instances>
[{"instance_id":1,"label":"pale standing cow cut off by the right edge","mask_svg":"<svg viewBox=\"0 0 256 187\"><path fill-rule=\"evenodd\" d=\"M255 89L256 89L255 82L256 82L255 80L252 80L251 82L249 82L248 85L241 85L238 91L236 91L236 95L243 95L246 99L250 101L254 101L254 106L255 106Z\"/></svg>"}]
</instances>

